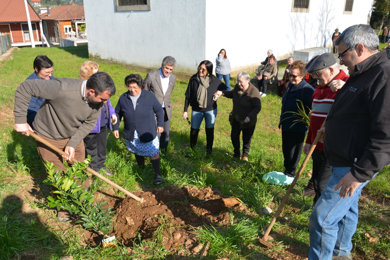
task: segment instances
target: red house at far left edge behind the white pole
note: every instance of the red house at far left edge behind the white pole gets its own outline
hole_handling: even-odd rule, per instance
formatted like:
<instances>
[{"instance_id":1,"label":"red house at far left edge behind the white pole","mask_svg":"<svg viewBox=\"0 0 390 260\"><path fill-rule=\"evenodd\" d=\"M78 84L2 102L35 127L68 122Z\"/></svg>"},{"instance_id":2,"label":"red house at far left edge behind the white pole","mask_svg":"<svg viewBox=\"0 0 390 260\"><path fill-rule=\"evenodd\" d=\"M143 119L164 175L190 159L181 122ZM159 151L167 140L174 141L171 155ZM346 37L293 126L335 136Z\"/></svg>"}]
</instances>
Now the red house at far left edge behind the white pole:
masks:
<instances>
[{"instance_id":1,"label":"red house at far left edge behind the white pole","mask_svg":"<svg viewBox=\"0 0 390 260\"><path fill-rule=\"evenodd\" d=\"M0 0L0 34L8 35L12 46L31 46L41 43L39 15L27 3L33 36L30 36L24 0Z\"/></svg>"}]
</instances>

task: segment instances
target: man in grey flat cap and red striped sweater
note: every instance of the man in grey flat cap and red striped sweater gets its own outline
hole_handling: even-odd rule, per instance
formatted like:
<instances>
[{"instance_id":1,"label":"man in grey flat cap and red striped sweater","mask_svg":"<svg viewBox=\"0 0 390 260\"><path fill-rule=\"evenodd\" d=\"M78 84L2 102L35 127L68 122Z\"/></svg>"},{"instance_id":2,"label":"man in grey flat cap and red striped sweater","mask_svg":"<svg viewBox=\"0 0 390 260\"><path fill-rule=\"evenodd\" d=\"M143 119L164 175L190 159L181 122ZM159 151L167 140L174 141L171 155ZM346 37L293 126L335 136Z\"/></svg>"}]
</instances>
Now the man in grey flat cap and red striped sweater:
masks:
<instances>
[{"instance_id":1,"label":"man in grey flat cap and red striped sweater","mask_svg":"<svg viewBox=\"0 0 390 260\"><path fill-rule=\"evenodd\" d=\"M337 90L340 89L349 76L345 75L343 70L338 68L337 60L330 53L323 53L313 60L308 68L308 73L312 75L313 79L318 79L318 85L312 95L312 115L310 116L310 126L306 144L303 146L303 152L309 153L318 129L321 128L329 109L333 104L337 95ZM312 182L309 181L305 188L306 194L315 193L313 204L321 196L325 184L331 177L331 166L324 155L324 144L317 143L312 154L313 170Z\"/></svg>"}]
</instances>

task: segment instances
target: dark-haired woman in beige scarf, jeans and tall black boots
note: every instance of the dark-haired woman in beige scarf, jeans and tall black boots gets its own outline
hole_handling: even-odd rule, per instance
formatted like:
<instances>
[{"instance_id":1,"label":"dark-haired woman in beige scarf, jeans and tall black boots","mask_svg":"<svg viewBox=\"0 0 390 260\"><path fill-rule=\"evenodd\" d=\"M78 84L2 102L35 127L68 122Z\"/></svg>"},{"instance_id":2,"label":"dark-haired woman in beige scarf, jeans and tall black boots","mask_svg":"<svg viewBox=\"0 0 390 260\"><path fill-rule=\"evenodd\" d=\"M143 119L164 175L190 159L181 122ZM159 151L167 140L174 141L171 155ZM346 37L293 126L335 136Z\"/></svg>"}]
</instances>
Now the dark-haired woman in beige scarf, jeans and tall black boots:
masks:
<instances>
[{"instance_id":1,"label":"dark-haired woman in beige scarf, jeans and tall black boots","mask_svg":"<svg viewBox=\"0 0 390 260\"><path fill-rule=\"evenodd\" d=\"M204 118L206 130L206 150L211 155L214 144L214 123L217 113L216 101L213 95L217 90L226 90L221 80L213 75L213 63L203 60L198 66L198 72L188 82L185 93L183 119L188 120L188 106L191 106L190 146L194 148L198 139L200 124Z\"/></svg>"}]
</instances>

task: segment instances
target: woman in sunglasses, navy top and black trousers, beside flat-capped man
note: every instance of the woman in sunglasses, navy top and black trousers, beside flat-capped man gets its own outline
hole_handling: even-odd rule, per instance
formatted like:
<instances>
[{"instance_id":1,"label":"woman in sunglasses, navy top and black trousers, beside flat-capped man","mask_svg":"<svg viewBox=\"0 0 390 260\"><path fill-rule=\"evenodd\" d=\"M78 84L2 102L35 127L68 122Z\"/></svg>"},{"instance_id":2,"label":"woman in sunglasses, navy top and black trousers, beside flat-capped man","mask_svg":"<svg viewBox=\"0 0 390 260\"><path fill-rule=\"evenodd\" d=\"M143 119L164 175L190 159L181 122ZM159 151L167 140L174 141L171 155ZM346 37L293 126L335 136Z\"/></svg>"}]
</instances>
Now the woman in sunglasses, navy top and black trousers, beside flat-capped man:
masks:
<instances>
[{"instance_id":1,"label":"woman in sunglasses, navy top and black trousers, beside flat-capped man","mask_svg":"<svg viewBox=\"0 0 390 260\"><path fill-rule=\"evenodd\" d=\"M308 130L308 125L302 122L303 118L299 116L298 109L304 109L305 113L309 114L312 107L314 88L303 80L306 74L305 63L302 60L292 62L290 65L291 80L282 98L279 128L282 129L284 174L290 177L295 176Z\"/></svg>"}]
</instances>

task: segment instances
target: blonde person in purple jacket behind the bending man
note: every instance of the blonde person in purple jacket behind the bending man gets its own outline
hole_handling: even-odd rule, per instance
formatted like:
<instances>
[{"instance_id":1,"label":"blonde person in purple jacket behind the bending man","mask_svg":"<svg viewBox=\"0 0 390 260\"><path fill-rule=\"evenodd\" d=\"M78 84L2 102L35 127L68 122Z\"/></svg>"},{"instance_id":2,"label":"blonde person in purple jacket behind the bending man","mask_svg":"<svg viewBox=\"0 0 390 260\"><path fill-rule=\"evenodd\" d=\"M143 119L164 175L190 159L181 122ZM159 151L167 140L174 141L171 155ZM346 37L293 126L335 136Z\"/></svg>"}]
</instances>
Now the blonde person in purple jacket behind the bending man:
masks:
<instances>
[{"instance_id":1,"label":"blonde person in purple jacket behind the bending man","mask_svg":"<svg viewBox=\"0 0 390 260\"><path fill-rule=\"evenodd\" d=\"M85 61L81 65L78 78L80 80L88 80L98 71L98 63ZM115 109L108 99L106 102L103 102L103 107L101 108L95 128L84 138L85 156L90 155L93 159L89 166L97 172L101 169L102 173L106 176L112 175L111 171L109 171L105 165L107 157L107 128L109 127L111 131L113 130L110 119L113 120L113 124L117 123Z\"/></svg>"}]
</instances>

